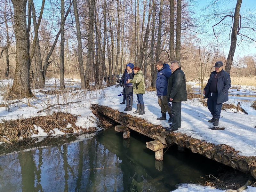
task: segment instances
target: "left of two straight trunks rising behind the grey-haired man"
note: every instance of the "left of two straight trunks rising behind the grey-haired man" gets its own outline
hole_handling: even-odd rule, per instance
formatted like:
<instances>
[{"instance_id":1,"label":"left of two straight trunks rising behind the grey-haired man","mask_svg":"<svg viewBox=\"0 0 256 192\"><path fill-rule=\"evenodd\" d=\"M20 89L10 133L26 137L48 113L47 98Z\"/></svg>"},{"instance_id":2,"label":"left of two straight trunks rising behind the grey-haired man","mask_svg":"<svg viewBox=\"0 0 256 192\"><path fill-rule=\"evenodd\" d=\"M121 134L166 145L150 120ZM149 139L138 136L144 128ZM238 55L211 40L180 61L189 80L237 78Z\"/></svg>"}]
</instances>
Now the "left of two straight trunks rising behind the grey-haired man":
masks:
<instances>
[{"instance_id":1,"label":"left of two straight trunks rising behind the grey-haired man","mask_svg":"<svg viewBox=\"0 0 256 192\"><path fill-rule=\"evenodd\" d=\"M174 56L174 0L170 0L170 39L169 39L170 61L175 60Z\"/></svg>"}]
</instances>

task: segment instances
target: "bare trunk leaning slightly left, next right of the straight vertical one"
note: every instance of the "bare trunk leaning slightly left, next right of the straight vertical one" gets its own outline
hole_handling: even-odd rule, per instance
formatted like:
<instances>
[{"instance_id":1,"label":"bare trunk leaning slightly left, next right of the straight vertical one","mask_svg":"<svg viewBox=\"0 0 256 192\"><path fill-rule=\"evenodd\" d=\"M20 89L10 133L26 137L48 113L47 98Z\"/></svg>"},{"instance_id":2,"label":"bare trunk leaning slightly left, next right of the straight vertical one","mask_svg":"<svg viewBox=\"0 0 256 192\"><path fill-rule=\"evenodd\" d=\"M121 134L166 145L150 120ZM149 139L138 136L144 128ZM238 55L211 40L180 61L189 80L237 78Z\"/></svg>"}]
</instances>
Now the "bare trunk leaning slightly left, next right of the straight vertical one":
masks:
<instances>
[{"instance_id":1,"label":"bare trunk leaning slightly left, next right of the straight vertical one","mask_svg":"<svg viewBox=\"0 0 256 192\"><path fill-rule=\"evenodd\" d=\"M76 37L77 37L77 47L78 47L78 64L79 64L79 70L80 70L81 89L85 89L82 38L81 38L80 22L78 17L76 0L73 1L73 6L74 6L74 15L76 20Z\"/></svg>"}]
</instances>

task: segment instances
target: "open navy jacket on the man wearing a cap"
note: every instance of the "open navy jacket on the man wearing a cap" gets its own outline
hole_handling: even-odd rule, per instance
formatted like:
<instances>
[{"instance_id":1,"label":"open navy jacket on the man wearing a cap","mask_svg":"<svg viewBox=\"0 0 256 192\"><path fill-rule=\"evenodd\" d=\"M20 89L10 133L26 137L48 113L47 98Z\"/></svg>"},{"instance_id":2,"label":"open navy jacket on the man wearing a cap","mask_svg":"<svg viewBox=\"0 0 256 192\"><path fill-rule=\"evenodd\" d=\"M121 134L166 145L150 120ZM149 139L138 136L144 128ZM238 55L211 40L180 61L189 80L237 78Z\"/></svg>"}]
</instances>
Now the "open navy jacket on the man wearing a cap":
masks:
<instances>
[{"instance_id":1,"label":"open navy jacket on the man wearing a cap","mask_svg":"<svg viewBox=\"0 0 256 192\"><path fill-rule=\"evenodd\" d=\"M230 80L230 75L227 71L224 71L222 69L220 73L221 73L220 77L218 78L218 81L217 81L217 90L218 90L217 103L224 103L228 101L228 89L231 87L231 80ZM210 92L209 91L210 84L215 74L216 74L215 71L212 71L210 78L208 80L208 83L204 88L204 91L205 91L204 98L208 97L208 94Z\"/></svg>"}]
</instances>

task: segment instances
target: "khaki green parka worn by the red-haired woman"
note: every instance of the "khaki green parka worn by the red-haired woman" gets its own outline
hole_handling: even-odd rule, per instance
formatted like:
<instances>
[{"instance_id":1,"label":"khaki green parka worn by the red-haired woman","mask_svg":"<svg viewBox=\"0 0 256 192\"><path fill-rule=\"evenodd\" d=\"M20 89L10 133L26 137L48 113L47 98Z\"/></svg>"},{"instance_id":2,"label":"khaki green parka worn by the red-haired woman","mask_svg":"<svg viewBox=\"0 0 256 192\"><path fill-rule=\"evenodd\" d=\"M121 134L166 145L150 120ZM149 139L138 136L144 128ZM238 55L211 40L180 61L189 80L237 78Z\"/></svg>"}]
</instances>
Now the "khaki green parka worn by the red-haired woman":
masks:
<instances>
[{"instance_id":1,"label":"khaki green parka worn by the red-haired woman","mask_svg":"<svg viewBox=\"0 0 256 192\"><path fill-rule=\"evenodd\" d=\"M141 70L135 73L130 82L132 83L134 94L145 94L145 80Z\"/></svg>"}]
</instances>

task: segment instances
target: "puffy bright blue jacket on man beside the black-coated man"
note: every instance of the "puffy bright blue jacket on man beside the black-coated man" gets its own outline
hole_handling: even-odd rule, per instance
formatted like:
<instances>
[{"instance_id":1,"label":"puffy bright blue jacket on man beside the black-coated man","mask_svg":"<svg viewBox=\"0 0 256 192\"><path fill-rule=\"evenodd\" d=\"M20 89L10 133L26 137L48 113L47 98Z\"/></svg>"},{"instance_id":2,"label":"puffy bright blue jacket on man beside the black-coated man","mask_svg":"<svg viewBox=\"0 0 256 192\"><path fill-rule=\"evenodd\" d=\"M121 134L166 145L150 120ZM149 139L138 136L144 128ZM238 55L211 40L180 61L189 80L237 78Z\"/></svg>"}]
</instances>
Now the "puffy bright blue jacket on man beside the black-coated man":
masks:
<instances>
[{"instance_id":1,"label":"puffy bright blue jacket on man beside the black-coated man","mask_svg":"<svg viewBox=\"0 0 256 192\"><path fill-rule=\"evenodd\" d=\"M168 79L172 75L170 66L164 63L164 67L160 69L156 76L156 95L164 96L167 95L167 84Z\"/></svg>"}]
</instances>

